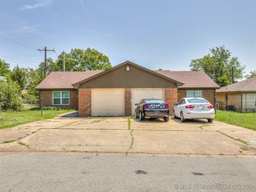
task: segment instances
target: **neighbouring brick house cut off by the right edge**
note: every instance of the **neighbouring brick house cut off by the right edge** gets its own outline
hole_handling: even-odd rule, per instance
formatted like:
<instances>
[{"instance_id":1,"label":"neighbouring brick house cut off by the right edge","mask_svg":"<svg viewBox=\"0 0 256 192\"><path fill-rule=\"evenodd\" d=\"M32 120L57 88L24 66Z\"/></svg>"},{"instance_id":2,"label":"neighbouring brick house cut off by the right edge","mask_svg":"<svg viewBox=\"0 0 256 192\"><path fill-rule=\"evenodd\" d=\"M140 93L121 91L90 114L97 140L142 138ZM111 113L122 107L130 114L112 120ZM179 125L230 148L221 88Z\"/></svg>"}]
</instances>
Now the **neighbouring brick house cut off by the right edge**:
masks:
<instances>
[{"instance_id":1,"label":"neighbouring brick house cut off by the right edge","mask_svg":"<svg viewBox=\"0 0 256 192\"><path fill-rule=\"evenodd\" d=\"M221 87L216 97L221 110L230 105L238 112L256 112L256 77Z\"/></svg>"}]
</instances>

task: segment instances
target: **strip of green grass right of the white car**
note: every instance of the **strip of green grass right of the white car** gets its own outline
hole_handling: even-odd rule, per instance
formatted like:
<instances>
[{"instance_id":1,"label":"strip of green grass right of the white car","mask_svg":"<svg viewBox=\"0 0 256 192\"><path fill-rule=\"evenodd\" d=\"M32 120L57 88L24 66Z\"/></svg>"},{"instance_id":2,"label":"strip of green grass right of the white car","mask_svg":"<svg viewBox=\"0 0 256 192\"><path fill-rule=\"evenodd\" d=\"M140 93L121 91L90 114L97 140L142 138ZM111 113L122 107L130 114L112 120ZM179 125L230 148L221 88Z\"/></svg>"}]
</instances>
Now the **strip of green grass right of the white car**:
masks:
<instances>
[{"instance_id":1,"label":"strip of green grass right of the white car","mask_svg":"<svg viewBox=\"0 0 256 192\"><path fill-rule=\"evenodd\" d=\"M256 131L256 113L217 111L214 120Z\"/></svg>"}]
</instances>

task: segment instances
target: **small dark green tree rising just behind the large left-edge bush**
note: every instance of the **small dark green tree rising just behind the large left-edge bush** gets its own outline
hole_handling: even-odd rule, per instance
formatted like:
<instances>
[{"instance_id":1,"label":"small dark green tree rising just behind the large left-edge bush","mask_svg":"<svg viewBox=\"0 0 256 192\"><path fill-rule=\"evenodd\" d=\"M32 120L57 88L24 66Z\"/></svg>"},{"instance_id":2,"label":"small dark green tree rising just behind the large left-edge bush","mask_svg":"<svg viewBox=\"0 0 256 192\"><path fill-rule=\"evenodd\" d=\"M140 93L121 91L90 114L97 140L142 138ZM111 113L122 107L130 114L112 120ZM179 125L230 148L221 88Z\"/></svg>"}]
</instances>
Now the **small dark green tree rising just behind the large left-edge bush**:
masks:
<instances>
[{"instance_id":1,"label":"small dark green tree rising just behind the large left-edge bush","mask_svg":"<svg viewBox=\"0 0 256 192\"><path fill-rule=\"evenodd\" d=\"M19 84L21 90L24 90L27 83L28 70L17 65L11 72L11 78L12 81L15 81Z\"/></svg>"}]
</instances>

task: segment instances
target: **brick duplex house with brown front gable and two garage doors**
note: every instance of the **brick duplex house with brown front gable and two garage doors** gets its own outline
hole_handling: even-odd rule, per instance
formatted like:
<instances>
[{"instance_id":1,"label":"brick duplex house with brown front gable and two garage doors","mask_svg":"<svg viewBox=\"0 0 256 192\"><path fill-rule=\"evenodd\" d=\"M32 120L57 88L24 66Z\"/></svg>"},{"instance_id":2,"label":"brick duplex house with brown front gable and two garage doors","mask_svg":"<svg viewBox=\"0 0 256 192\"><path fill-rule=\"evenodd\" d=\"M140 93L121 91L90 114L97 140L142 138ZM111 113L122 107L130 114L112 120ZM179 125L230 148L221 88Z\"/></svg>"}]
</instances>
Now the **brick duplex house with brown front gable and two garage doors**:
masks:
<instances>
[{"instance_id":1,"label":"brick duplex house with brown front gable and two garage doors","mask_svg":"<svg viewBox=\"0 0 256 192\"><path fill-rule=\"evenodd\" d=\"M170 113L182 97L205 97L214 104L220 88L204 72L149 70L125 61L101 71L52 72L36 86L44 106L78 109L79 116L131 116L143 98L163 99Z\"/></svg>"}]
</instances>

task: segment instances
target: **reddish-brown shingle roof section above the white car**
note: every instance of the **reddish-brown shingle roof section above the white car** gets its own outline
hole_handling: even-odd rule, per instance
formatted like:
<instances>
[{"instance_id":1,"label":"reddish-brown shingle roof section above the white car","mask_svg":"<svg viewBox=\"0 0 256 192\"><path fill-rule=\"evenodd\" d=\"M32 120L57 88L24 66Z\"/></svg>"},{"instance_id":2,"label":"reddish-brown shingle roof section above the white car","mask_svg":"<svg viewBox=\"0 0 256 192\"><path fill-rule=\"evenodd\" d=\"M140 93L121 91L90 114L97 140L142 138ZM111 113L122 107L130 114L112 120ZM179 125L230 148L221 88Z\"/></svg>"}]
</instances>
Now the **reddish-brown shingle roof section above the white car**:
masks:
<instances>
[{"instance_id":1,"label":"reddish-brown shingle roof section above the white car","mask_svg":"<svg viewBox=\"0 0 256 192\"><path fill-rule=\"evenodd\" d=\"M179 88L220 88L212 79L202 71L170 71L155 70L157 73L184 83Z\"/></svg>"}]
</instances>

